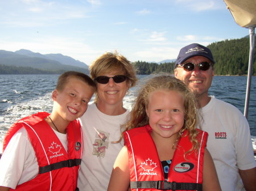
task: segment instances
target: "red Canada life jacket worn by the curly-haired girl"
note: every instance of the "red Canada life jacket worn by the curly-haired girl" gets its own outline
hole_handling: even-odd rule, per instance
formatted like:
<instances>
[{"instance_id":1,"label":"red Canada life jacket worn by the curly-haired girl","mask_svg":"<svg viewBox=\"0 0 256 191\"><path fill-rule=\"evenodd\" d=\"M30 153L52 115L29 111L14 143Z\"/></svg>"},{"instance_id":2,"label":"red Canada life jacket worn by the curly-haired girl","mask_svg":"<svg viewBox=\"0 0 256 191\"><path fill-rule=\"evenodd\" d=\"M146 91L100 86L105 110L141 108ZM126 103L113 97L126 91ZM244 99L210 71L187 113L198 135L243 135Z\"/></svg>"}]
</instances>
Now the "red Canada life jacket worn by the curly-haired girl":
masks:
<instances>
[{"instance_id":1,"label":"red Canada life jacket worn by the curly-haired girl","mask_svg":"<svg viewBox=\"0 0 256 191\"><path fill-rule=\"evenodd\" d=\"M146 125L124 133L129 156L131 190L201 190L207 132L198 129L199 154L187 154L185 157L188 160L184 158L184 153L192 148L192 143L188 135L180 139L172 158L168 180L165 181L162 164L150 135L151 130L150 125ZM186 133L187 131L184 132Z\"/></svg>"}]
</instances>

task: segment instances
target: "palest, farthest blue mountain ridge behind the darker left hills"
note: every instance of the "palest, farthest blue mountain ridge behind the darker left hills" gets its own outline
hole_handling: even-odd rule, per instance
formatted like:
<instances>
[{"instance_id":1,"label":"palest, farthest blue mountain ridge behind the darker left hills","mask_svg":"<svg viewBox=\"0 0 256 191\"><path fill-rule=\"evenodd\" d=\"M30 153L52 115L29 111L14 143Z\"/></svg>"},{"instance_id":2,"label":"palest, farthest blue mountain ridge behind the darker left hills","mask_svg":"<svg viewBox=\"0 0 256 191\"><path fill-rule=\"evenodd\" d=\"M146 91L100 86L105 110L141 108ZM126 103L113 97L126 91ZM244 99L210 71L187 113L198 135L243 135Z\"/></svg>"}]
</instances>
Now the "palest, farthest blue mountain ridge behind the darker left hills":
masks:
<instances>
[{"instance_id":1,"label":"palest, farthest blue mountain ridge behind the darker left hills","mask_svg":"<svg viewBox=\"0 0 256 191\"><path fill-rule=\"evenodd\" d=\"M77 67L85 67L88 69L88 65L84 62L80 62L79 60L75 60L69 56L64 56L63 54L40 54L40 53L34 53L30 50L26 49L20 49L15 51L15 53L18 53L20 55L28 56L28 57L38 57L38 58L44 58L48 60L54 60L57 62L60 62L64 65L71 65L71 66L77 66Z\"/></svg>"}]
</instances>

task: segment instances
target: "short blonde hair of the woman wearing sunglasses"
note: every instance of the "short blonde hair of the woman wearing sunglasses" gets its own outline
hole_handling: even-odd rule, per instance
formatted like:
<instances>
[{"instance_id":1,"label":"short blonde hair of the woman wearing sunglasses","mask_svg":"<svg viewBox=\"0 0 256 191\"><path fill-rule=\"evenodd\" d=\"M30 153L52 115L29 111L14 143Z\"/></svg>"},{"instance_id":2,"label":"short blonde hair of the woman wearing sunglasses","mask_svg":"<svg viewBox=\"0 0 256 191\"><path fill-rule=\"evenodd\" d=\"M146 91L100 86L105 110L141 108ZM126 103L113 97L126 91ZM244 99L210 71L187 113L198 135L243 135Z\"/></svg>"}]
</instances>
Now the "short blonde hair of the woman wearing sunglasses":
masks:
<instances>
[{"instance_id":1,"label":"short blonde hair of the woman wearing sunglasses","mask_svg":"<svg viewBox=\"0 0 256 191\"><path fill-rule=\"evenodd\" d=\"M90 65L89 70L92 79L104 74L123 74L127 77L126 83L129 83L129 88L134 87L138 80L134 65L116 51L102 54ZM96 92L94 102L97 103L97 100L98 95Z\"/></svg>"}]
</instances>

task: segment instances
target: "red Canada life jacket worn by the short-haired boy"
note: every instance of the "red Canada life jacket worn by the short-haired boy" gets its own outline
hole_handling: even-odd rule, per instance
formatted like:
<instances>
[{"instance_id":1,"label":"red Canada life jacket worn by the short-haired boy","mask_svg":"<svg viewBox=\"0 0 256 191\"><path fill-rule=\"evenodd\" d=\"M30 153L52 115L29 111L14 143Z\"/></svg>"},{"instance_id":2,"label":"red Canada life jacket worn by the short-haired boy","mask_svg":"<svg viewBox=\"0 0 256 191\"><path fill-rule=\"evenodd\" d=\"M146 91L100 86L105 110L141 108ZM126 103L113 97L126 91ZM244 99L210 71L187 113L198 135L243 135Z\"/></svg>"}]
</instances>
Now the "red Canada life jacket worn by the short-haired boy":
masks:
<instances>
[{"instance_id":1,"label":"red Canada life jacket worn by the short-haired boy","mask_svg":"<svg viewBox=\"0 0 256 191\"><path fill-rule=\"evenodd\" d=\"M16 122L6 134L5 150L11 137L20 128L27 130L38 160L38 175L15 190L76 190L82 156L82 131L78 120L67 127L68 151L66 152L52 128L44 121L49 113L32 114ZM13 190L13 189L10 189Z\"/></svg>"}]
</instances>

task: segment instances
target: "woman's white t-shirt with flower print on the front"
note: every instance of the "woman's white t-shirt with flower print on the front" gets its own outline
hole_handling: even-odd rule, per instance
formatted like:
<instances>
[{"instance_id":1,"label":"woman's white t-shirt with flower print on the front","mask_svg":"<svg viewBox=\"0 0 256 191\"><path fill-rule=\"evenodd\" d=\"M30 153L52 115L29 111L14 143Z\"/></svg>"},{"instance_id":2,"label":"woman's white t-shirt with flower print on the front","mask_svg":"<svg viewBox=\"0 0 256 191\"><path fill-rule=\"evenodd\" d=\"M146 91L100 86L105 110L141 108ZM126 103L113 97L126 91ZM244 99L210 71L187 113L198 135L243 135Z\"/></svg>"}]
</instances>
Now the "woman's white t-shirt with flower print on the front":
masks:
<instances>
[{"instance_id":1,"label":"woman's white t-shirt with flower print on the front","mask_svg":"<svg viewBox=\"0 0 256 191\"><path fill-rule=\"evenodd\" d=\"M107 190L115 158L123 147L123 142L111 142L119 140L120 125L125 124L128 114L126 111L118 116L109 116L100 112L93 103L80 118L84 137L78 179L80 191Z\"/></svg>"}]
</instances>

